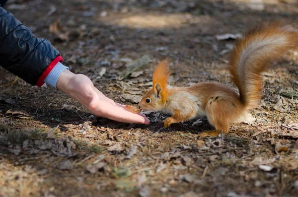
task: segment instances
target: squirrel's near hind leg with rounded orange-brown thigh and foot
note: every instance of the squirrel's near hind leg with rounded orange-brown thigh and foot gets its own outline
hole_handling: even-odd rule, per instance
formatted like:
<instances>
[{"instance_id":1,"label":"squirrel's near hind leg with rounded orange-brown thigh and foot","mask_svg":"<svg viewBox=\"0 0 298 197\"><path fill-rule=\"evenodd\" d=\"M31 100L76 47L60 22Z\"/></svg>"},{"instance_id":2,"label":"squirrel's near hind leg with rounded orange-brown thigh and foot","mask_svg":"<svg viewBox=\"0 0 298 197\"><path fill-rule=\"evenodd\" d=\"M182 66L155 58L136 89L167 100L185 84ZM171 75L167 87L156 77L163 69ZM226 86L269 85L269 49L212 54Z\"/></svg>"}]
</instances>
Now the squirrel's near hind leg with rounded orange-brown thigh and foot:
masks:
<instances>
[{"instance_id":1,"label":"squirrel's near hind leg with rounded orange-brown thigh and foot","mask_svg":"<svg viewBox=\"0 0 298 197\"><path fill-rule=\"evenodd\" d=\"M228 133L230 124L237 119L242 112L242 106L238 98L226 95L211 97L206 105L206 115L209 123L215 127L215 131L206 132L209 135L218 135L221 132Z\"/></svg>"}]
</instances>

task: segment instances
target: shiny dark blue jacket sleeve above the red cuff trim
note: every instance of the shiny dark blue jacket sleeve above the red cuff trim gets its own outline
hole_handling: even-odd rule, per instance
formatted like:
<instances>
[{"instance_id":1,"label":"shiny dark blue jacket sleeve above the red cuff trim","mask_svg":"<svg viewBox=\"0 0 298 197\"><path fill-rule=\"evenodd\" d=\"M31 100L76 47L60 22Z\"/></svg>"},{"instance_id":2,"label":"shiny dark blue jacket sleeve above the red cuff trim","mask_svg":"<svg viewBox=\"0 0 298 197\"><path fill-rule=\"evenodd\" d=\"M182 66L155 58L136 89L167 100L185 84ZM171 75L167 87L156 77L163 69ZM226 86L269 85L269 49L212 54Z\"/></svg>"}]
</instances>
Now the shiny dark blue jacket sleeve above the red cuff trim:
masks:
<instances>
[{"instance_id":1,"label":"shiny dark blue jacket sleeve above the red cuff trim","mask_svg":"<svg viewBox=\"0 0 298 197\"><path fill-rule=\"evenodd\" d=\"M51 62L60 56L46 40L37 38L0 6L0 66L36 85Z\"/></svg>"}]
</instances>

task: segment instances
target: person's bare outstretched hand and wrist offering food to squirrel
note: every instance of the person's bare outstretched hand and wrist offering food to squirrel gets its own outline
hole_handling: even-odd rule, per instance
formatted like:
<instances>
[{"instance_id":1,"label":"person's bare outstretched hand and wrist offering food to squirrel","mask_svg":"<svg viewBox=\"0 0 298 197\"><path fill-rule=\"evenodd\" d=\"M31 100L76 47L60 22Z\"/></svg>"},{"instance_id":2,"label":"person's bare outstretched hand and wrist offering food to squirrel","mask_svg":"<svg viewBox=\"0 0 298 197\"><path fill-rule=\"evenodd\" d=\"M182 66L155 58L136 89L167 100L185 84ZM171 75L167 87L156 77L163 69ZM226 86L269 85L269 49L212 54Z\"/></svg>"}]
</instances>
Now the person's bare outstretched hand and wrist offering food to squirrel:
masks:
<instances>
[{"instance_id":1,"label":"person's bare outstretched hand and wrist offering food to squirrel","mask_svg":"<svg viewBox=\"0 0 298 197\"><path fill-rule=\"evenodd\" d=\"M57 88L70 95L94 115L123 123L149 124L144 114L134 114L125 110L125 105L107 98L92 81L83 74L74 74L65 69L59 76Z\"/></svg>"}]
</instances>

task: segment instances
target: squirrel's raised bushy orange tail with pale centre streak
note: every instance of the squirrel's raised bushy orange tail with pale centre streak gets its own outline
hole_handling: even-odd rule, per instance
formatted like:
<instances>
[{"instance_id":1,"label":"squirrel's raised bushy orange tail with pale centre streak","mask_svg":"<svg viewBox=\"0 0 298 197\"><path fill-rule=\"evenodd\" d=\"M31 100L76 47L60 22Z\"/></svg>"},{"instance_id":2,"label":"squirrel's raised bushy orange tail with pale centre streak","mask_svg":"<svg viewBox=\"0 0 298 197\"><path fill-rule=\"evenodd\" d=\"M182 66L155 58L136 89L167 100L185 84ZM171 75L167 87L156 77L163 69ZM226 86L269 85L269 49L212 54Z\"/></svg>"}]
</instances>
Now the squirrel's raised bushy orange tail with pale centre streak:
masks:
<instances>
[{"instance_id":1,"label":"squirrel's raised bushy orange tail with pale centre streak","mask_svg":"<svg viewBox=\"0 0 298 197\"><path fill-rule=\"evenodd\" d=\"M255 27L236 41L230 53L231 80L239 89L245 108L258 105L262 90L262 72L272 61L281 59L291 49L298 48L298 30L275 22Z\"/></svg>"}]
</instances>

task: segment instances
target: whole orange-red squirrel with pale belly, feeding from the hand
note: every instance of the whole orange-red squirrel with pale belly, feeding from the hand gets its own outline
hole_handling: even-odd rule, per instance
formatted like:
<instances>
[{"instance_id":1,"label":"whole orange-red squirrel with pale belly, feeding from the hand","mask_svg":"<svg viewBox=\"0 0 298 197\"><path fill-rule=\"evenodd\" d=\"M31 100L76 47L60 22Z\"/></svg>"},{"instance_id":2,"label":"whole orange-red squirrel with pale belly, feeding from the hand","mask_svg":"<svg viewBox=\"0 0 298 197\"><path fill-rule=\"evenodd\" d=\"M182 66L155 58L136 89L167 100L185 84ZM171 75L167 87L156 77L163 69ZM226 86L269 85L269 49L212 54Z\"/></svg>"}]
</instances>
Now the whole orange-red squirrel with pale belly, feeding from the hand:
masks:
<instances>
[{"instance_id":1,"label":"whole orange-red squirrel with pale belly, feeding from the hand","mask_svg":"<svg viewBox=\"0 0 298 197\"><path fill-rule=\"evenodd\" d=\"M236 40L229 54L227 70L236 91L220 82L202 82L188 87L170 87L169 61L160 62L152 75L152 88L138 104L142 110L166 111L172 116L164 121L167 128L198 116L207 116L214 131L201 135L228 133L249 109L256 108L262 90L262 72L272 61L281 59L288 50L298 48L298 30L279 22L255 26Z\"/></svg>"}]
</instances>

